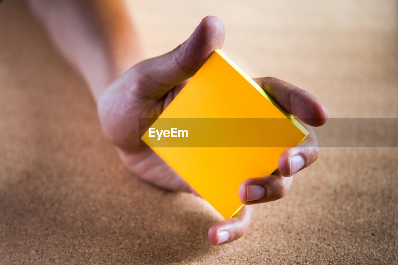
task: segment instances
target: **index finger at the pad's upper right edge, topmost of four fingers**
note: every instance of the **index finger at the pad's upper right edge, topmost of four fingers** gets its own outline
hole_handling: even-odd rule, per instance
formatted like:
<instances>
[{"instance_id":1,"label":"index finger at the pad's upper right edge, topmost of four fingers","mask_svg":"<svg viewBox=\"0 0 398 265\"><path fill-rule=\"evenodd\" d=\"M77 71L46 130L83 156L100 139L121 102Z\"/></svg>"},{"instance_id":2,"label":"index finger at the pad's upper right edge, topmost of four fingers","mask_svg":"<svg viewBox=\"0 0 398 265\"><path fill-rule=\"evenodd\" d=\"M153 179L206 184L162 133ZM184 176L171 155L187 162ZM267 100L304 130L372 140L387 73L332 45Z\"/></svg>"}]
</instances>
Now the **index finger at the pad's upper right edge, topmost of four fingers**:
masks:
<instances>
[{"instance_id":1,"label":"index finger at the pad's upper right edge, topmost of four fingers","mask_svg":"<svg viewBox=\"0 0 398 265\"><path fill-rule=\"evenodd\" d=\"M328 110L312 94L275 77L253 78L283 109L311 126L324 125Z\"/></svg>"}]
</instances>

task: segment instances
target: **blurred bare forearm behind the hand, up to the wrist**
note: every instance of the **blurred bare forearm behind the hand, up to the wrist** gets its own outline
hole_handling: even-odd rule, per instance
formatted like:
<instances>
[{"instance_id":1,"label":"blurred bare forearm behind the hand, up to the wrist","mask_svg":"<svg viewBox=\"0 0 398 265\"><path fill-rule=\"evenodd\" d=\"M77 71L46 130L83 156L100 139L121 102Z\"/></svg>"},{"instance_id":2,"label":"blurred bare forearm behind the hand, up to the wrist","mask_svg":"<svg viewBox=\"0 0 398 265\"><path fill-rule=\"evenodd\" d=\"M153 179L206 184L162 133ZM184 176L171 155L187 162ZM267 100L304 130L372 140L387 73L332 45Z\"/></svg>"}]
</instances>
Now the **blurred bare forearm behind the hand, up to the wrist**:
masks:
<instances>
[{"instance_id":1,"label":"blurred bare forearm behind the hand, up to the wrist","mask_svg":"<svg viewBox=\"0 0 398 265\"><path fill-rule=\"evenodd\" d=\"M27 0L53 43L86 80L97 101L141 59L123 0Z\"/></svg>"}]
</instances>

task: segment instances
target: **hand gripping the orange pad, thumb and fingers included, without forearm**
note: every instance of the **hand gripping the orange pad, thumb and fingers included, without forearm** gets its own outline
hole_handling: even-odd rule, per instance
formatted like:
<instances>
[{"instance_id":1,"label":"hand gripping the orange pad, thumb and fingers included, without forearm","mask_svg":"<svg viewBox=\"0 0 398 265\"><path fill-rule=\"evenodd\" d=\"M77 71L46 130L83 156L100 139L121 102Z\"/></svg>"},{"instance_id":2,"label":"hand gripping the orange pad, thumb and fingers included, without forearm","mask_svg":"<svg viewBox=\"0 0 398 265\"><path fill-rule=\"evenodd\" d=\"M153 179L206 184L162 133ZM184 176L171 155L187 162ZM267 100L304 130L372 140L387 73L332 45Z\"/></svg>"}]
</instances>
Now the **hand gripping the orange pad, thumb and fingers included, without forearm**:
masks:
<instances>
[{"instance_id":1,"label":"hand gripping the orange pad, thumb and fingers included, without forearm","mask_svg":"<svg viewBox=\"0 0 398 265\"><path fill-rule=\"evenodd\" d=\"M139 118L158 117L181 91L187 79L195 74L215 49L222 47L224 37L225 29L220 19L208 16L187 41L169 53L134 65L101 94L98 115L102 130L115 144L125 166L144 181L164 189L194 192L155 152L139 147L137 139L140 129L150 126L141 124L142 128L139 128ZM260 78L256 82L289 113L306 117L302 119L304 123L319 126L326 122L326 109L311 94L276 78ZM240 238L250 222L252 208L249 204L283 197L292 181L292 177L288 176L316 160L316 136L310 127L306 128L310 132L306 140L281 155L278 163L280 172L247 179L242 183L239 196L248 205L236 217L210 228L211 244L223 244Z\"/></svg>"}]
</instances>

